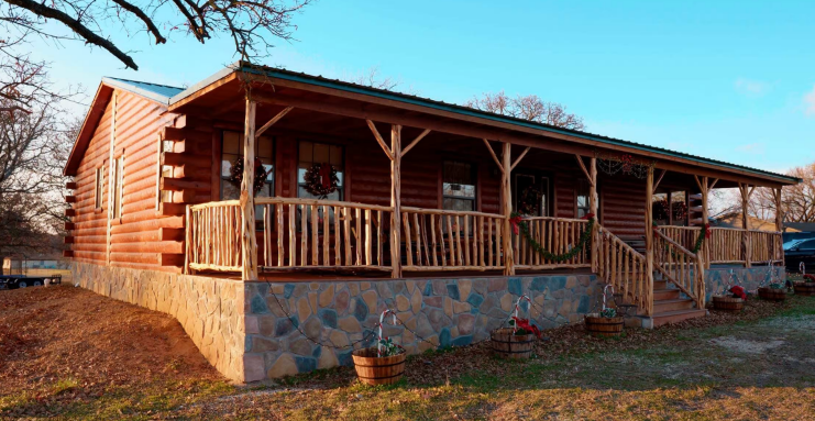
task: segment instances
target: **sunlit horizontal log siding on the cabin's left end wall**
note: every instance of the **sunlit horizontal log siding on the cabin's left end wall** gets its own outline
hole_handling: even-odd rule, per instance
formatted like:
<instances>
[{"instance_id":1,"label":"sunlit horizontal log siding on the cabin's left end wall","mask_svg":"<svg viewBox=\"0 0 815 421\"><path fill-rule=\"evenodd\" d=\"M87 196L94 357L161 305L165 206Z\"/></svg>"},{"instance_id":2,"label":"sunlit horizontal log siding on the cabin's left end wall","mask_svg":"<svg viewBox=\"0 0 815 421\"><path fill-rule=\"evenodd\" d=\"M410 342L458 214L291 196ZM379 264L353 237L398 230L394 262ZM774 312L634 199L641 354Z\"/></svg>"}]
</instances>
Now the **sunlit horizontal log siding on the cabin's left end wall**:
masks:
<instances>
[{"instance_id":1,"label":"sunlit horizontal log siding on the cabin's left end wall","mask_svg":"<svg viewBox=\"0 0 815 421\"><path fill-rule=\"evenodd\" d=\"M156 201L157 133L172 122L173 115L161 115L165 107L128 92L117 92L114 156L124 153L122 218L112 221L110 261L112 266L177 270L162 268L161 253L180 253L177 242L161 239L161 228L181 225L179 218L158 217ZM71 207L76 229L71 232L74 259L95 264L107 261L107 224L110 188L110 131L112 101L96 128L75 181L78 201ZM104 197L102 209L93 209L96 169L104 164ZM209 199L202 198L202 199Z\"/></svg>"}]
</instances>

